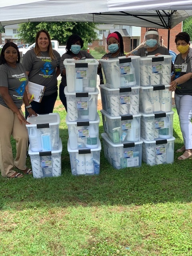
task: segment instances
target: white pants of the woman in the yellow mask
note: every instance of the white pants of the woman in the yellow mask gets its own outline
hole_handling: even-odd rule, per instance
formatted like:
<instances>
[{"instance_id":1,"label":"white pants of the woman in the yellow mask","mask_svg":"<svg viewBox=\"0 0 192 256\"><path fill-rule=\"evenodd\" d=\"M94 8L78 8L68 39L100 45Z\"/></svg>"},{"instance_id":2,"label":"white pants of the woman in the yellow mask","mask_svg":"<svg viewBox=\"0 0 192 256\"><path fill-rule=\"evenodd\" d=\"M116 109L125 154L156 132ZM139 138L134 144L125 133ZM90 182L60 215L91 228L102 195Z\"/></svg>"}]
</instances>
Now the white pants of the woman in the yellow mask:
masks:
<instances>
[{"instance_id":1,"label":"white pants of the woman in the yellow mask","mask_svg":"<svg viewBox=\"0 0 192 256\"><path fill-rule=\"evenodd\" d=\"M192 149L192 96L175 93L175 104L186 149Z\"/></svg>"}]
</instances>

